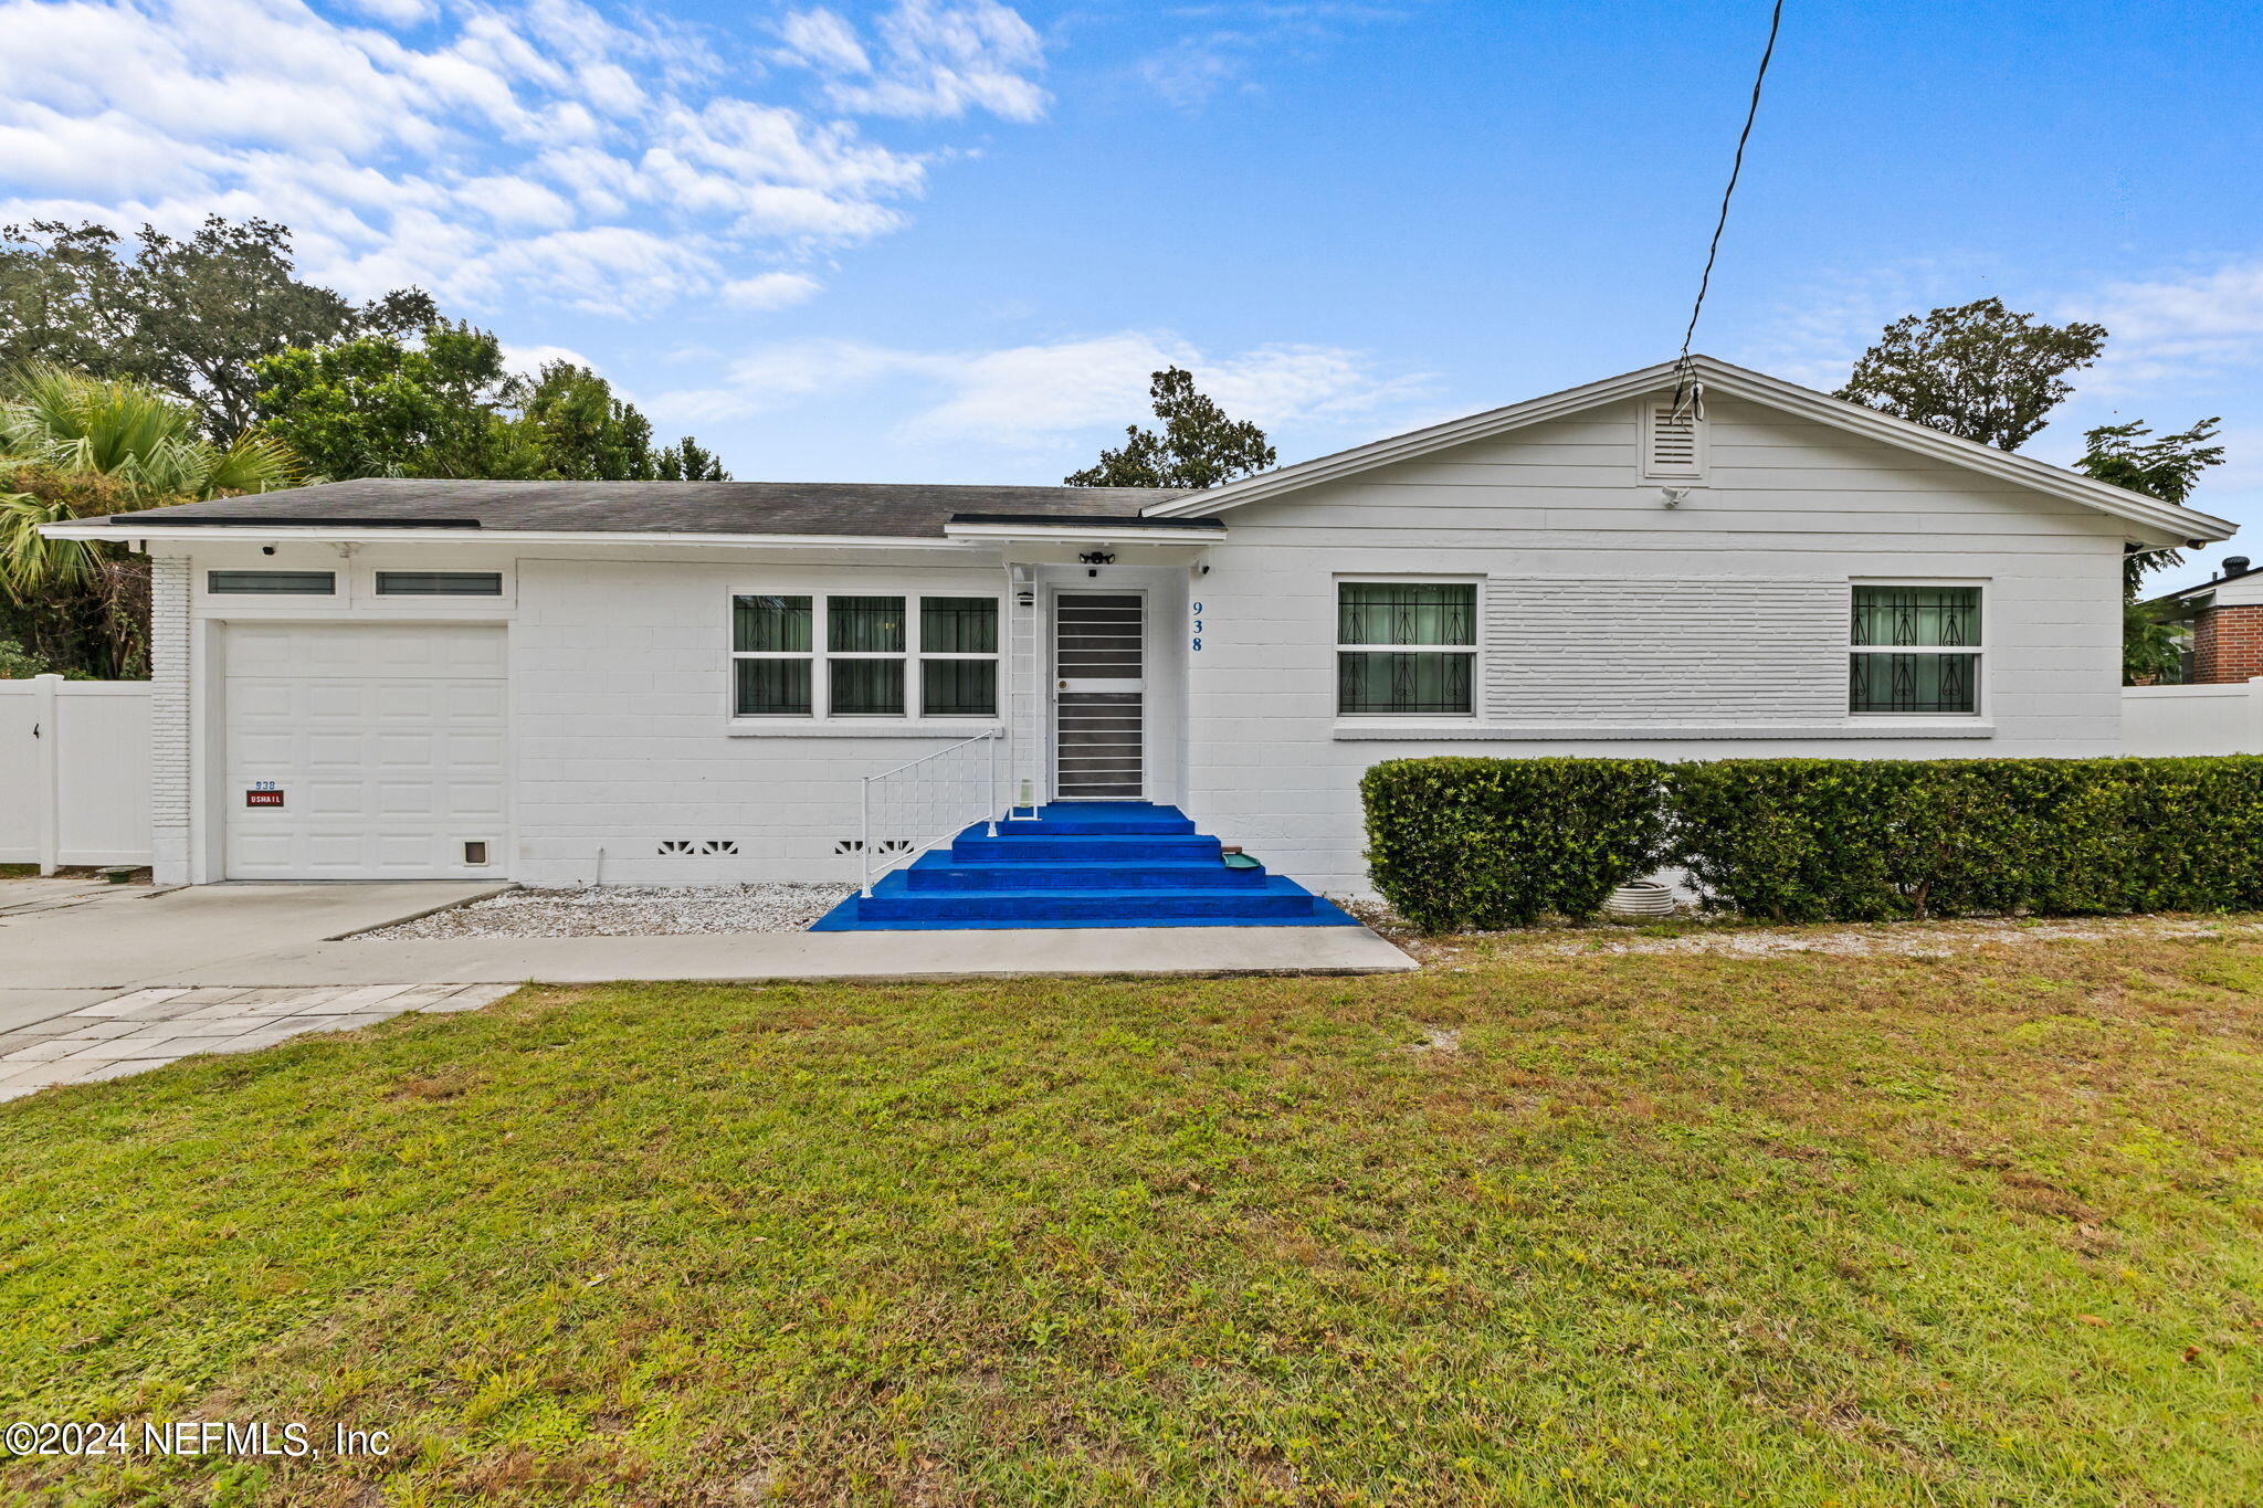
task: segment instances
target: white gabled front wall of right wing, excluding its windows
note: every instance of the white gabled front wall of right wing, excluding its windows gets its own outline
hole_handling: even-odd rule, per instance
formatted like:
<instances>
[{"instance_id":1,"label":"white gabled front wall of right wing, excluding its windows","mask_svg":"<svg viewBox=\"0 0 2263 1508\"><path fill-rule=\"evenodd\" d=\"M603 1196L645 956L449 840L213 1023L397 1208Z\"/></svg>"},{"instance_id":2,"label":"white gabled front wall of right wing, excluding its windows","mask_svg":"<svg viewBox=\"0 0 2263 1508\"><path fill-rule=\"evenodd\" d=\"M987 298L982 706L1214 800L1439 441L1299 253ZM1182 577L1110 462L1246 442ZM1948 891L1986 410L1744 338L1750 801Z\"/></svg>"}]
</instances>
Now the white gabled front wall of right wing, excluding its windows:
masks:
<instances>
[{"instance_id":1,"label":"white gabled front wall of right wing, excluding its windows","mask_svg":"<svg viewBox=\"0 0 2263 1508\"><path fill-rule=\"evenodd\" d=\"M1638 482L1629 402L1229 513L1188 671L1190 814L1362 893L1358 780L1392 757L2118 751L2116 520L1752 405L1709 421L1709 486L1681 509ZM1337 728L1346 574L1487 581L1475 721ZM1987 737L1844 714L1862 577L1985 583ZM1772 690L1756 638L1783 665Z\"/></svg>"}]
</instances>

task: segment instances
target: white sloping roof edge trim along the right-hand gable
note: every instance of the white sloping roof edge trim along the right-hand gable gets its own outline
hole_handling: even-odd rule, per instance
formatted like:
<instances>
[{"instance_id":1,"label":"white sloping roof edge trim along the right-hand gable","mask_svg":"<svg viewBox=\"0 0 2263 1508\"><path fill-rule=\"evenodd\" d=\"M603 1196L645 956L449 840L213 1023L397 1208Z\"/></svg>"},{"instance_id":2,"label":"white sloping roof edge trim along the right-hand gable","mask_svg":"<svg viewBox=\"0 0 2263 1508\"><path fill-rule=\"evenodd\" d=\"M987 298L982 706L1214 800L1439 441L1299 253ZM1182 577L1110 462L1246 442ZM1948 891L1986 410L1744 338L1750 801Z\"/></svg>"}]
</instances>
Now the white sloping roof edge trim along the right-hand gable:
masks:
<instances>
[{"instance_id":1,"label":"white sloping roof edge trim along the right-hand gable","mask_svg":"<svg viewBox=\"0 0 2263 1508\"><path fill-rule=\"evenodd\" d=\"M2236 525L2200 513L2197 509L2179 509L2177 504L2161 502L2159 497L2145 497L2143 493L2132 493L2127 488L2111 486L2109 482L2096 482L2082 473L2066 470L2064 466L2048 466L2010 450L1996 450L1994 445L1980 445L1976 441L1957 439L1955 434L1942 434L1939 430L1928 430L1926 425L1914 425L1905 418L1867 409L1860 402L1831 398L1829 393L1817 393L1815 389L1783 382L1781 378L1731 366L1729 362L1720 362L1715 357L1690 357L1690 366L1695 366L1697 380L1704 382L1706 391L1713 396L1758 402L1783 414L1831 425L1833 430L1860 434L1862 439L1881 441L1885 445L1899 445L1901 450L1912 450L1935 461L1967 466L2000 482L2014 482L2053 497L2064 497L2066 502L2077 502L2086 509L2098 509L2100 513L2109 513L2143 529L2148 538L2141 543L2222 540L2231 538L2236 529ZM1245 502L1279 497L1319 482L1337 482L1362 470L1374 470L1376 466L1389 466L1392 461L1410 461L1451 445L1464 445L1469 441L1482 441L1496 434L1509 434L1512 430L1523 430L1528 425L1539 425L1550 418L1564 418L1566 414L1643 398L1672 387L1672 382L1675 364L1661 362L1659 366L1645 366L1618 378L1604 378L1602 382L1589 382L1586 387L1548 393L1546 398L1512 402L1505 409L1487 409L1485 414L1453 418L1442 425L1430 425L1428 430L1414 430L1412 434L1394 434L1389 439L1374 441L1371 445L1337 450L1335 454L1297 461L1294 466L1281 466L1256 477L1229 482L1227 486L1217 486L1206 493L1181 493L1163 502L1152 502L1147 513L1152 518L1206 518L1211 513L1236 509Z\"/></svg>"}]
</instances>

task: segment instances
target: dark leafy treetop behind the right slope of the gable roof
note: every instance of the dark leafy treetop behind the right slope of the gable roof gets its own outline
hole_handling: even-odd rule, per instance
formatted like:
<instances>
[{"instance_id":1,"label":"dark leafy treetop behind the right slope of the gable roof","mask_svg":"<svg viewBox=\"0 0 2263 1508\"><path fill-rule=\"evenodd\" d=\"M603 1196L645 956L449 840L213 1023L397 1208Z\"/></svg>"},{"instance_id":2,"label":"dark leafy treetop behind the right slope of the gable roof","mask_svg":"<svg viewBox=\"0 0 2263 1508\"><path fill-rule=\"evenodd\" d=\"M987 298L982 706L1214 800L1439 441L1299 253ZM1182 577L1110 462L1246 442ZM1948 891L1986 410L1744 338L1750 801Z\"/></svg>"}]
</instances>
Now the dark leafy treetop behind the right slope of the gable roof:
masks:
<instances>
[{"instance_id":1,"label":"dark leafy treetop behind the right slope of the gable roof","mask_svg":"<svg viewBox=\"0 0 2263 1508\"><path fill-rule=\"evenodd\" d=\"M1840 398L1998 450L2019 450L2098 359L2105 326L2048 326L1980 298L1905 314L1853 364Z\"/></svg>"}]
</instances>

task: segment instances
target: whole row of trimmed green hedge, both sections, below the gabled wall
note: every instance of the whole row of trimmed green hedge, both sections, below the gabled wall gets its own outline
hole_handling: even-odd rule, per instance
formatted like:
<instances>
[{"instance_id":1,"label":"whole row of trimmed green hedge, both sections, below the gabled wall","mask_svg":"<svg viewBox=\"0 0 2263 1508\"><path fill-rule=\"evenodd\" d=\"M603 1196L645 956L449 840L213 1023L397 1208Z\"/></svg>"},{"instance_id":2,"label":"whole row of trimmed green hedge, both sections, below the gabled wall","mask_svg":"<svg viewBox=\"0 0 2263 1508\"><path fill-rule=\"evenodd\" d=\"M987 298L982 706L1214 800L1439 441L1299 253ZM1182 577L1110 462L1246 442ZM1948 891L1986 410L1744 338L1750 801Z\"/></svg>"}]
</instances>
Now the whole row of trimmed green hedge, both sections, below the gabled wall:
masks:
<instances>
[{"instance_id":1,"label":"whole row of trimmed green hedge, both sections, below the gabled wall","mask_svg":"<svg viewBox=\"0 0 2263 1508\"><path fill-rule=\"evenodd\" d=\"M1428 931L1584 918L1681 864L1790 922L2263 909L2263 757L1394 760L1374 884Z\"/></svg>"}]
</instances>

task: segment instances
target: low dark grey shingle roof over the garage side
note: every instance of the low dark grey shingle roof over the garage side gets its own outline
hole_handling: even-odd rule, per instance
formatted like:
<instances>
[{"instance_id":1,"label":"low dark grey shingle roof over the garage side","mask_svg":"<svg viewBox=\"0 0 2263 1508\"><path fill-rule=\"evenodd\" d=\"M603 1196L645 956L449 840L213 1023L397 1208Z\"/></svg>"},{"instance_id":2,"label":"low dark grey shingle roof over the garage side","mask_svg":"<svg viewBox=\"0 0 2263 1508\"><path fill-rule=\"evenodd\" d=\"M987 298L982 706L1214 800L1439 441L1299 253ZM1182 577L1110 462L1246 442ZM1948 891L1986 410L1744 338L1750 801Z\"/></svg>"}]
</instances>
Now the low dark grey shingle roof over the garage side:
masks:
<instances>
[{"instance_id":1,"label":"low dark grey shingle roof over the garage side","mask_svg":"<svg viewBox=\"0 0 2263 1508\"><path fill-rule=\"evenodd\" d=\"M955 513L1129 520L1179 493L1141 486L880 482L425 482L364 477L115 515L120 527L351 522L618 534L846 534L944 538Z\"/></svg>"}]
</instances>

